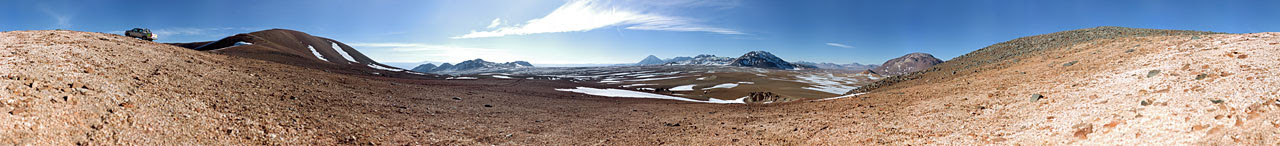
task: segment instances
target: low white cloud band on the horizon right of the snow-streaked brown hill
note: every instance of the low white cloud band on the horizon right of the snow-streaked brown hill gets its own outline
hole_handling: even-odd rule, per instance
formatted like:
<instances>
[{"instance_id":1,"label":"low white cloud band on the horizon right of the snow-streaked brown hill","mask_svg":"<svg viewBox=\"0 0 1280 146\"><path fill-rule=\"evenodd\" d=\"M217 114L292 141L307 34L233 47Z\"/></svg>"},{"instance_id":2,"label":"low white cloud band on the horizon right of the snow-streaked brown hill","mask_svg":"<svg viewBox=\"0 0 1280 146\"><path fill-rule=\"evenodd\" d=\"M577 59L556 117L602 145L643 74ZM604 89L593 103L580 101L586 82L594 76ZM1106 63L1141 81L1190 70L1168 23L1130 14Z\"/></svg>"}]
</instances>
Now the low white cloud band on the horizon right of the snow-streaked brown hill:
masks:
<instances>
[{"instance_id":1,"label":"low white cloud band on the horizon right of the snow-streaked brown hill","mask_svg":"<svg viewBox=\"0 0 1280 146\"><path fill-rule=\"evenodd\" d=\"M429 44L348 44L355 47L384 49L387 51L366 51L366 55L384 56L380 61L421 61L434 60L458 63L462 60L484 59L489 61L515 61L525 58L500 49L465 47Z\"/></svg>"}]
</instances>

